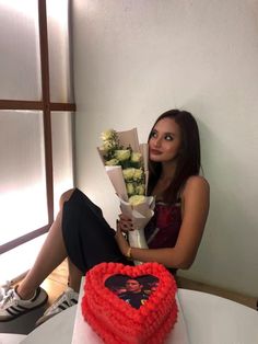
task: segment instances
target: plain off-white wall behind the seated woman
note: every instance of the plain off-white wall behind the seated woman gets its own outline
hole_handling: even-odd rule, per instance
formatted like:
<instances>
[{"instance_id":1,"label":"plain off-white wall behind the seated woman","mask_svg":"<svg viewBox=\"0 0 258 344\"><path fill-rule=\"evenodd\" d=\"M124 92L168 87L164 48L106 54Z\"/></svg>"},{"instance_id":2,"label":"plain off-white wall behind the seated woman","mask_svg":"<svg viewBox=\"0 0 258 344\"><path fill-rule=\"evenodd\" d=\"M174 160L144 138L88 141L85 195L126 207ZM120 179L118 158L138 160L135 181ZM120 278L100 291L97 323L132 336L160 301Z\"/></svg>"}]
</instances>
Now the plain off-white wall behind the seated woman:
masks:
<instances>
[{"instance_id":1,"label":"plain off-white wall behind the seated woman","mask_svg":"<svg viewBox=\"0 0 258 344\"><path fill-rule=\"evenodd\" d=\"M95 147L106 128L196 116L211 209L192 279L258 293L258 1L74 0L77 185L114 223Z\"/></svg>"}]
</instances>

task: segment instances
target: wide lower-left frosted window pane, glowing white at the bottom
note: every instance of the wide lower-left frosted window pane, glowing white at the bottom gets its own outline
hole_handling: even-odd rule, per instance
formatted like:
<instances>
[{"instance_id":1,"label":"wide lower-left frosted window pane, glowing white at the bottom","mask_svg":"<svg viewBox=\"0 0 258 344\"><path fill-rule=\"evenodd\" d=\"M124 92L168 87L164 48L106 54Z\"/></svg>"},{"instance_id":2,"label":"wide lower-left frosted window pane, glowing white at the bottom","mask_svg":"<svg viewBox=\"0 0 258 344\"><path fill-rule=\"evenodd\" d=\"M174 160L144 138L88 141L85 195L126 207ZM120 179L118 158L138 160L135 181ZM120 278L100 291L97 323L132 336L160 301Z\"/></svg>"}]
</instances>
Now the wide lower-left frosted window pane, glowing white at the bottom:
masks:
<instances>
[{"instance_id":1,"label":"wide lower-left frosted window pane, glowing white at the bottom","mask_svg":"<svg viewBox=\"0 0 258 344\"><path fill-rule=\"evenodd\" d=\"M0 111L0 244L48 222L42 112Z\"/></svg>"}]
</instances>

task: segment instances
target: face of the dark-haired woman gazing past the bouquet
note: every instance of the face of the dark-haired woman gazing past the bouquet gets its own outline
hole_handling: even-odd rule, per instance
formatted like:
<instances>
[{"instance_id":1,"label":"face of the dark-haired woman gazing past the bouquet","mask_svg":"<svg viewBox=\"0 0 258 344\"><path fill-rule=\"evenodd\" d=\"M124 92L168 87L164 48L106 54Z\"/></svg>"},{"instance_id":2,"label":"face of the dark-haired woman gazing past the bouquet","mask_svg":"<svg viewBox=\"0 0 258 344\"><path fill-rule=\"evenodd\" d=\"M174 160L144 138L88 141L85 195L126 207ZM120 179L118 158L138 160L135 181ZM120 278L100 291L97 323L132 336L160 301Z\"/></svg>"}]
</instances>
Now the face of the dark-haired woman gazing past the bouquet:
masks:
<instances>
[{"instance_id":1,"label":"face of the dark-haired woman gazing past the bouquet","mask_svg":"<svg viewBox=\"0 0 258 344\"><path fill-rule=\"evenodd\" d=\"M172 118L163 118L155 124L150 136L150 160L155 162L173 161L177 157L180 146L179 126Z\"/></svg>"}]
</instances>

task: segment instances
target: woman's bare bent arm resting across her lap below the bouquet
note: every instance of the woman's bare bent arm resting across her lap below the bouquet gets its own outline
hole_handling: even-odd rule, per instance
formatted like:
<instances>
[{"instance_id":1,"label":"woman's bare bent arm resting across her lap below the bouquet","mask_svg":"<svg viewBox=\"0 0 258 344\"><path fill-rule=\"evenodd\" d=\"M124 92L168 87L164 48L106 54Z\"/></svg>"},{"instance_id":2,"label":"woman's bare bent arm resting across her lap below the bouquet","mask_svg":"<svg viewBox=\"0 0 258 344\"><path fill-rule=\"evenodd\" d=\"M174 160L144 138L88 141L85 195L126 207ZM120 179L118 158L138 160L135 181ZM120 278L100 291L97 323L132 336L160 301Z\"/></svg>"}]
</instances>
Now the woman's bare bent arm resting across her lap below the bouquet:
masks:
<instances>
[{"instance_id":1,"label":"woman's bare bent arm resting across her lap below the bouquet","mask_svg":"<svg viewBox=\"0 0 258 344\"><path fill-rule=\"evenodd\" d=\"M189 268L191 266L209 213L210 188L208 182L201 176L189 177L181 198L183 222L176 245L168 249L131 248L130 254L133 260L157 262L175 268ZM116 239L122 254L127 255L129 244L124 238L119 226Z\"/></svg>"}]
</instances>

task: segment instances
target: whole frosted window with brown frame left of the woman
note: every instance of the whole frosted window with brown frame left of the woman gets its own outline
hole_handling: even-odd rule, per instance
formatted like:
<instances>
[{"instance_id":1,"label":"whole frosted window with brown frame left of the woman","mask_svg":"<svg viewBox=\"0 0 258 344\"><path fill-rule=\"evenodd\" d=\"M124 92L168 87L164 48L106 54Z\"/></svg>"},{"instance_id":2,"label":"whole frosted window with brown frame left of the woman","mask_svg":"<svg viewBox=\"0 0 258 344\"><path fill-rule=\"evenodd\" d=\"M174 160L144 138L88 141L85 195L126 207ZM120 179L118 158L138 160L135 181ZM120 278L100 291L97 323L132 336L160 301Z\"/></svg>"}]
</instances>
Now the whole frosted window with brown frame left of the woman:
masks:
<instances>
[{"instance_id":1,"label":"whole frosted window with brown frame left of the woman","mask_svg":"<svg viewBox=\"0 0 258 344\"><path fill-rule=\"evenodd\" d=\"M0 253L46 232L73 186L69 0L0 0Z\"/></svg>"}]
</instances>

